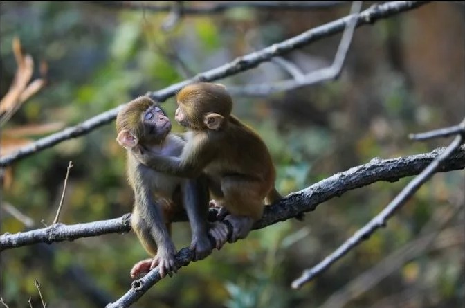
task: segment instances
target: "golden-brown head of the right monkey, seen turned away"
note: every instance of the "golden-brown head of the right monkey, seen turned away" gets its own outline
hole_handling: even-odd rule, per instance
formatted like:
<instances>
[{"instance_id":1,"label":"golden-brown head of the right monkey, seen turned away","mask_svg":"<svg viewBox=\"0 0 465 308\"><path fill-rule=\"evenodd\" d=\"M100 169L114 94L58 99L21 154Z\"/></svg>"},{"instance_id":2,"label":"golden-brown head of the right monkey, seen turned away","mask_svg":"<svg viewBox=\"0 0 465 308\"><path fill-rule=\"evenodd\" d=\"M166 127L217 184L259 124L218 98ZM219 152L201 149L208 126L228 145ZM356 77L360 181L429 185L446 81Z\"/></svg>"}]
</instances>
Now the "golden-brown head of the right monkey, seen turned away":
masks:
<instances>
[{"instance_id":1,"label":"golden-brown head of the right monkey, seen turned away","mask_svg":"<svg viewBox=\"0 0 465 308\"><path fill-rule=\"evenodd\" d=\"M174 119L195 130L221 129L233 109L233 100L223 84L189 84L176 96L179 105Z\"/></svg>"}]
</instances>

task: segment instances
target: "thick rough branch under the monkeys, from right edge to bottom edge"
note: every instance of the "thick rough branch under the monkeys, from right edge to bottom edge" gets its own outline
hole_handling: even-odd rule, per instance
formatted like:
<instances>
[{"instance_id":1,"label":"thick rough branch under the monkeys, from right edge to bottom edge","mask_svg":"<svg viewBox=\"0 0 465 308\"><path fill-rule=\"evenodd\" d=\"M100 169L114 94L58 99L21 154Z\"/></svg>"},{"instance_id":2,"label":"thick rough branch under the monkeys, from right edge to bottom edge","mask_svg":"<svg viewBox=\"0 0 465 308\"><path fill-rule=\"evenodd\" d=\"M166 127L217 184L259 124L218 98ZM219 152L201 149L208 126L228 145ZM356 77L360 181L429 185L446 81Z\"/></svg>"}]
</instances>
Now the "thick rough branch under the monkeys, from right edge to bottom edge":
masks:
<instances>
[{"instance_id":1,"label":"thick rough branch under the monkeys, from right edge to bottom edge","mask_svg":"<svg viewBox=\"0 0 465 308\"><path fill-rule=\"evenodd\" d=\"M439 155L448 148L437 149L428 154L407 156L403 158L381 160L374 159L370 163L353 167L345 172L335 174L323 181L320 181L300 192L289 194L280 203L266 208L264 218L257 221L255 229L264 228L275 224L277 221L284 221L295 217L301 212L314 210L316 206L332 197L340 196L348 190L362 187L375 181L397 181L403 176L418 174L428 164L434 162ZM463 169L465 167L465 146L453 154L453 160L457 159L455 167ZM444 168L450 163L450 158L446 158L444 164L437 171L446 171ZM449 165L450 167L450 165ZM176 255L176 265L187 266L194 258L194 253L188 248L183 248ZM116 302L110 303L106 308L129 307L136 302L143 294L156 282L161 280L158 267L145 275L143 278L134 280L131 289Z\"/></svg>"}]
</instances>

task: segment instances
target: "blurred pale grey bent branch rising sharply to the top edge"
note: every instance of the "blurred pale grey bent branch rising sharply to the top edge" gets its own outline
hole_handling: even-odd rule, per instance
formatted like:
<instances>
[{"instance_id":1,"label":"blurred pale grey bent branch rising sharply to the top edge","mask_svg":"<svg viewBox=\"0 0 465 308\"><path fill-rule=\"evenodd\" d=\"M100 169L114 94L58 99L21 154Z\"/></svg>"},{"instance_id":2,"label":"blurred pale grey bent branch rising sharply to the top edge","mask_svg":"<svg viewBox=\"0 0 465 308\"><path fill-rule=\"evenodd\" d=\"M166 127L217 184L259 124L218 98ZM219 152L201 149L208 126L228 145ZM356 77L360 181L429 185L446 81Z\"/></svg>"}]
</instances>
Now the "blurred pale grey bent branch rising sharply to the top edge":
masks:
<instances>
[{"instance_id":1,"label":"blurred pale grey bent branch rising sharply to the top edge","mask_svg":"<svg viewBox=\"0 0 465 308\"><path fill-rule=\"evenodd\" d=\"M331 66L313 71L300 78L266 84L247 84L244 87L228 87L228 91L240 96L268 96L275 92L289 91L291 89L319 84L328 80L336 80L343 71L345 58L349 51L350 44L352 43L354 30L359 19L362 2L363 1L354 1L352 3L349 19L346 21L343 36L340 39L338 50L336 51L334 62Z\"/></svg>"}]
</instances>

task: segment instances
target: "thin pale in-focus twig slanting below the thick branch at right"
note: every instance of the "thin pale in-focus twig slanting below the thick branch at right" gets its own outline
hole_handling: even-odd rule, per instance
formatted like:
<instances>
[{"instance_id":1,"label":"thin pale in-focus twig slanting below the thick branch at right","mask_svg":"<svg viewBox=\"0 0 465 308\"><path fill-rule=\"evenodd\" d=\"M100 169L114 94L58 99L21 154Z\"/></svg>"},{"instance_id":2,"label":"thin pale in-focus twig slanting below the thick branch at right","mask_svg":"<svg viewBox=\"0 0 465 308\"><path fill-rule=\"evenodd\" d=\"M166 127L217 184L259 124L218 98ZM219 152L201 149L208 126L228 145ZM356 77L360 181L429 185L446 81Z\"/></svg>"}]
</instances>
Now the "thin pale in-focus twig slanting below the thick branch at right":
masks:
<instances>
[{"instance_id":1,"label":"thin pale in-focus twig slanting below the thick branch at right","mask_svg":"<svg viewBox=\"0 0 465 308\"><path fill-rule=\"evenodd\" d=\"M320 263L313 266L311 269L305 270L300 278L292 282L292 287L298 289L302 287L303 284L306 284L310 280L316 277L316 275L326 271L331 264L334 264L341 257L349 253L355 246L363 242L365 239L368 239L370 235L374 233L377 229L386 225L388 219L394 215L396 210L399 210L405 202L412 197L412 194L416 192L423 183L428 181L432 174L435 173L435 170L446 161L448 156L452 154L457 147L462 143L462 136L456 136L452 143L446 150L442 152L437 158L435 158L425 170L423 170L418 176L416 176L407 186L392 200L388 206L385 207L378 215L376 215L370 222L368 222L363 228L358 230L352 237L349 237L347 241L344 242L339 248L336 249L331 255L325 257Z\"/></svg>"}]
</instances>

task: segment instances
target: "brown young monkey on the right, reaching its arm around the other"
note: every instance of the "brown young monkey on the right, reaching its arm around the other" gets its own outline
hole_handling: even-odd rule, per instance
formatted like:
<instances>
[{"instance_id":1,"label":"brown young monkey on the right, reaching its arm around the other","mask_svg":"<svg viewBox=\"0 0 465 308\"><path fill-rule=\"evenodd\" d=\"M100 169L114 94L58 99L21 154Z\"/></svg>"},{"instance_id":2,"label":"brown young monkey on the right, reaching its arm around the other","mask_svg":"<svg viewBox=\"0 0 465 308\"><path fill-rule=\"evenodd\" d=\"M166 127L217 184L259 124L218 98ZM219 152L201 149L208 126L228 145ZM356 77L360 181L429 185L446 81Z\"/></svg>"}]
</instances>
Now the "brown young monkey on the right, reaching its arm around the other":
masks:
<instances>
[{"instance_id":1,"label":"brown young monkey on the right, reaching its arm around the other","mask_svg":"<svg viewBox=\"0 0 465 308\"><path fill-rule=\"evenodd\" d=\"M281 199L275 190L275 167L262 138L231 115L233 100L222 84L190 84L176 96L176 121L188 128L180 157L136 154L139 161L174 176L205 172L219 219L233 227L230 242L245 238L260 219L264 201ZM226 238L223 239L226 242ZM224 244L224 243L223 243Z\"/></svg>"}]
</instances>

